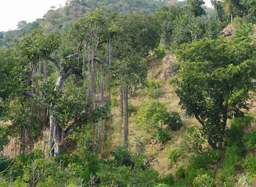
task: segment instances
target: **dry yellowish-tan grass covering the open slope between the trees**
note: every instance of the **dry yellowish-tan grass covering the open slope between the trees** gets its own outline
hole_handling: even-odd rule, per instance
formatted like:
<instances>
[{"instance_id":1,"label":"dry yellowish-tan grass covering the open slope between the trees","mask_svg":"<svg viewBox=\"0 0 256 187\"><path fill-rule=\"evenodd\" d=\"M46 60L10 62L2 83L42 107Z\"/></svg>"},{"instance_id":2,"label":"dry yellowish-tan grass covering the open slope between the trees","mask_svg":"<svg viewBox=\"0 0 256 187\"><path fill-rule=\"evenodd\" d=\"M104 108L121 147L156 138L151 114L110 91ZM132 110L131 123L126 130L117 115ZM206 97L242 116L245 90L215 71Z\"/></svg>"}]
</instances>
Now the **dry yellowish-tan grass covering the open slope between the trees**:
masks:
<instances>
[{"instance_id":1,"label":"dry yellowish-tan grass covering the open slope between the trees","mask_svg":"<svg viewBox=\"0 0 256 187\"><path fill-rule=\"evenodd\" d=\"M153 77L156 74L159 74L160 69L167 69L168 66L172 63L171 61L163 62L160 60L157 60L156 62L151 61L150 62L150 70L148 73L148 79L153 79ZM141 136L146 143L146 154L148 156L153 155L157 158L159 161L159 164L154 164L154 168L159 172L160 177L163 177L164 175L168 175L168 173L174 174L176 168L178 168L178 164L174 164L169 166L168 163L168 153L170 150L177 148L180 143L182 142L182 134L186 131L186 127L189 127L191 125L199 125L197 120L194 118L187 118L185 111L183 111L179 105L178 105L178 97L175 94L175 86L171 86L167 83L166 80L163 80L161 84L161 89L164 90L164 95L162 97L159 97L158 100L166 104L166 107L168 108L168 111L177 111L181 117L182 122L185 124L182 129L171 132L171 140L168 141L168 143L165 144L150 144L149 141L146 141L146 139L149 138L148 135L146 135L146 132L143 132L142 129L139 129L137 125L135 125L135 116L136 114L132 114L129 116L129 149L134 152L135 151L135 139L136 137ZM130 97L129 103L135 106L135 108L139 108L142 105L142 102L150 103L150 101L153 101L153 98L149 98L146 96L146 89L145 90L139 90L138 96L136 97ZM119 101L119 97L116 97ZM114 150L117 146L122 146L124 143L124 128L122 127L121 132L121 139L119 135L119 120L120 120L120 109L119 108L112 108L112 121L110 122L110 131L106 132L107 134L107 141L106 141L106 150ZM123 122L124 125L124 122ZM109 155L106 155L109 156ZM184 161L181 161L182 164L184 164ZM185 161L186 162L186 161Z\"/></svg>"}]
</instances>

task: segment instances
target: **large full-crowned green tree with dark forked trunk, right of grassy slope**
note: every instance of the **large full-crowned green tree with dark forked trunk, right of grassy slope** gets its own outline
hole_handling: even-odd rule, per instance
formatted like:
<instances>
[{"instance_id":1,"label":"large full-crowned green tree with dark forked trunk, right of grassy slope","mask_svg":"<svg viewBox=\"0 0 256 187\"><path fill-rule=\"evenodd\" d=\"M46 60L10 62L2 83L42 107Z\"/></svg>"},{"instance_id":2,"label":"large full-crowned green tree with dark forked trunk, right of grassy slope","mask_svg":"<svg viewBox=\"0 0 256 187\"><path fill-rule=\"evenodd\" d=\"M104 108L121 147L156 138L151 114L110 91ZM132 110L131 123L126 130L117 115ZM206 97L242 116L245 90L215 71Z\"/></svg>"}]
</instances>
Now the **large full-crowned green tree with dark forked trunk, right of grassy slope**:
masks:
<instances>
[{"instance_id":1,"label":"large full-crowned green tree with dark forked trunk, right of grassy slope","mask_svg":"<svg viewBox=\"0 0 256 187\"><path fill-rule=\"evenodd\" d=\"M244 115L254 91L255 44L249 36L232 41L200 40L182 45L179 104L203 127L213 149L222 148L227 120Z\"/></svg>"}]
</instances>

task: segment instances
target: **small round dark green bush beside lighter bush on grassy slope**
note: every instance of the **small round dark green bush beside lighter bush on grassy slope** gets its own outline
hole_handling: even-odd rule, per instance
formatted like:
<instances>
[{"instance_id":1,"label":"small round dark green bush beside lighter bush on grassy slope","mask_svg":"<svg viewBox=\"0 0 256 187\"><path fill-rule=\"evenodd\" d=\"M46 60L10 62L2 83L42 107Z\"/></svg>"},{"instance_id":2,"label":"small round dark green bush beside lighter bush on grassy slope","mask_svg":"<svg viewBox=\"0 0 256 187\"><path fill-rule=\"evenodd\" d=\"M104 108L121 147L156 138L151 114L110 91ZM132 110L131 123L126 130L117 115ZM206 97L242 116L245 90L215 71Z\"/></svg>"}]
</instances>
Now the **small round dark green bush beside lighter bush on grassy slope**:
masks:
<instances>
[{"instance_id":1,"label":"small round dark green bush beside lighter bush on grassy slope","mask_svg":"<svg viewBox=\"0 0 256 187\"><path fill-rule=\"evenodd\" d=\"M182 128L182 118L178 114L178 112L172 111L168 114L168 117L164 120L164 124L168 125L168 129L178 130Z\"/></svg>"}]
</instances>

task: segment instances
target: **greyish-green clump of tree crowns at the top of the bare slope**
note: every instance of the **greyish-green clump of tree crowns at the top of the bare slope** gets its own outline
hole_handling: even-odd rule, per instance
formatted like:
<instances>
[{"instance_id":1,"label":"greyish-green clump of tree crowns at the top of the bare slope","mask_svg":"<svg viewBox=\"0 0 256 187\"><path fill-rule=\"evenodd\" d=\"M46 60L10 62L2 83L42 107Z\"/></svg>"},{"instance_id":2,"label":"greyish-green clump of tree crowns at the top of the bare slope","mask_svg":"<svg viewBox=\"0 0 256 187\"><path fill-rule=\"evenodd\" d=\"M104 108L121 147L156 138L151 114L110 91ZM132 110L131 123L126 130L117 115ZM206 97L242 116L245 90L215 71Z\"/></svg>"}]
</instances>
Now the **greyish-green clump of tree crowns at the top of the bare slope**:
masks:
<instances>
[{"instance_id":1,"label":"greyish-green clump of tree crowns at the top of the bare slope","mask_svg":"<svg viewBox=\"0 0 256 187\"><path fill-rule=\"evenodd\" d=\"M200 16L204 14L204 9L200 7L204 3L199 0L188 2L187 9L177 6L161 7L155 12L157 21L160 24L160 41L162 44L177 48L179 44L191 41L199 41L208 37L214 39L218 37L222 29L222 23L210 16ZM196 16L197 15L197 16Z\"/></svg>"}]
</instances>

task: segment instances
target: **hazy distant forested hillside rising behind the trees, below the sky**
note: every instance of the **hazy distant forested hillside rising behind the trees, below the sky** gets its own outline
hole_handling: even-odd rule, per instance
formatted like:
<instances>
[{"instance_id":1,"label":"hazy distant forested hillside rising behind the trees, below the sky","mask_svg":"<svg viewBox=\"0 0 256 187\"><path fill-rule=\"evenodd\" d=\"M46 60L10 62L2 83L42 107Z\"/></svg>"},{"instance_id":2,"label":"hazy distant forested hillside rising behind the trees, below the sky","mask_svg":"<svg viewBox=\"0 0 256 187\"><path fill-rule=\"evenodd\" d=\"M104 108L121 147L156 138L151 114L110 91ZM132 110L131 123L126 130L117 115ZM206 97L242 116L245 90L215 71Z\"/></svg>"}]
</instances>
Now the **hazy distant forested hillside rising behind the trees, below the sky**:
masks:
<instances>
[{"instance_id":1,"label":"hazy distant forested hillside rising behind the trees, below the sky","mask_svg":"<svg viewBox=\"0 0 256 187\"><path fill-rule=\"evenodd\" d=\"M38 28L38 26L44 27L48 32L52 30L56 32L60 32L60 30L67 31L70 23L74 23L75 20L85 16L86 13L99 9L100 7L103 7L106 12L145 12L147 14L152 14L156 9L159 9L163 5L178 5L180 7L184 7L186 5L186 1L67 1L64 7L59 9L52 8L48 12L45 12L45 16L42 19L37 19L33 23L27 23L26 21L20 20L20 23L17 25L17 30L0 32L0 36L2 36L0 37L0 47L13 46L13 44L16 44L22 37L31 33L31 31ZM206 6L204 6L204 9L211 17L215 16L214 9L209 9Z\"/></svg>"}]
</instances>

